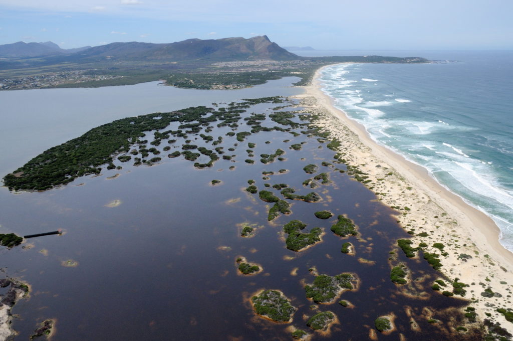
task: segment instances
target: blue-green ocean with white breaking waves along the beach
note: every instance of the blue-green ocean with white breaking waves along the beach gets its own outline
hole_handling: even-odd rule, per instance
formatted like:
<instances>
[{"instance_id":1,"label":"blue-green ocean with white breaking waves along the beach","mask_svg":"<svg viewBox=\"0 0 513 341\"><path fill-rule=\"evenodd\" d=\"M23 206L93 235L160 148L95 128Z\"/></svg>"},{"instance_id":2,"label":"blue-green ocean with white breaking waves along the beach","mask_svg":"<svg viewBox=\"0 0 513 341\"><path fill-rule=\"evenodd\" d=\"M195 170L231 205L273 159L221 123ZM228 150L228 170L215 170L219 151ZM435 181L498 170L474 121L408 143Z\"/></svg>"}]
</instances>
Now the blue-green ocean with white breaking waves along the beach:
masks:
<instances>
[{"instance_id":1,"label":"blue-green ocean with white breaking waves along the beach","mask_svg":"<svg viewBox=\"0 0 513 341\"><path fill-rule=\"evenodd\" d=\"M323 91L377 143L490 216L513 251L513 51L311 51L423 56L323 69Z\"/></svg>"}]
</instances>

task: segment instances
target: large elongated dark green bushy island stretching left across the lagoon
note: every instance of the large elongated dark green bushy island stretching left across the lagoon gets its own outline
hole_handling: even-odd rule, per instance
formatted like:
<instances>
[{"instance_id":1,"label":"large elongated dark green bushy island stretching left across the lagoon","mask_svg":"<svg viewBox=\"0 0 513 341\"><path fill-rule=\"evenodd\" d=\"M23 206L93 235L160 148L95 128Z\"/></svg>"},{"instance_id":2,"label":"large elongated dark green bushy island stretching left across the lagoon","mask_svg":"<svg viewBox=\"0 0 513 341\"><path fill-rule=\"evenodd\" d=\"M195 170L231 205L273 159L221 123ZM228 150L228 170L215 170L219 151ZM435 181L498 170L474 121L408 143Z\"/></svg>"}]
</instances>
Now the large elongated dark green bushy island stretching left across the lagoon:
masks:
<instances>
[{"instance_id":1,"label":"large elongated dark green bushy island stretching left across the lagoon","mask_svg":"<svg viewBox=\"0 0 513 341\"><path fill-rule=\"evenodd\" d=\"M163 140L169 139L171 135L186 138L187 132L197 134L203 129L203 126L208 126L212 122L219 122L218 126L236 127L238 126L236 122L242 119L240 114L245 111L244 108L258 103L282 103L282 99L279 97L247 99L242 103L233 103L228 108L219 108L218 110L200 106L116 120L93 128L81 137L44 151L44 153L36 156L14 172L7 174L4 177L4 184L11 191L49 190L58 185L68 184L77 177L100 174L102 171L100 166L107 164L107 169L115 168L112 162L118 155L121 155L118 159L122 158L120 159L122 162L126 160L123 157L129 156L128 154L140 155L141 157L135 158L134 165L151 164L154 161L145 158L149 156L149 153L155 154L160 153L160 151L154 147L146 148L148 140L141 140L146 137L145 131L157 130L154 132L154 140L151 143L158 145ZM158 131L166 128L171 122L183 124L179 126L178 130ZM261 126L253 126L252 128L255 132L261 129L264 128ZM279 126L265 130L288 131L287 128ZM245 136L251 135L250 132L245 133ZM240 134L238 133L238 135ZM243 139L241 135L237 138L238 140ZM213 145L214 143L212 142ZM139 145L139 150L130 150L136 144ZM200 153L192 153L187 150L187 148L193 148L190 144L184 144L182 148L185 150L181 154L186 160L194 161L200 156ZM198 150L200 149L198 148ZM212 150L206 150L205 148L200 151L208 155L210 161L203 164L194 163L195 167L211 167L216 160L219 160L218 153ZM287 212L287 205L280 202L278 206L275 211Z\"/></svg>"}]
</instances>

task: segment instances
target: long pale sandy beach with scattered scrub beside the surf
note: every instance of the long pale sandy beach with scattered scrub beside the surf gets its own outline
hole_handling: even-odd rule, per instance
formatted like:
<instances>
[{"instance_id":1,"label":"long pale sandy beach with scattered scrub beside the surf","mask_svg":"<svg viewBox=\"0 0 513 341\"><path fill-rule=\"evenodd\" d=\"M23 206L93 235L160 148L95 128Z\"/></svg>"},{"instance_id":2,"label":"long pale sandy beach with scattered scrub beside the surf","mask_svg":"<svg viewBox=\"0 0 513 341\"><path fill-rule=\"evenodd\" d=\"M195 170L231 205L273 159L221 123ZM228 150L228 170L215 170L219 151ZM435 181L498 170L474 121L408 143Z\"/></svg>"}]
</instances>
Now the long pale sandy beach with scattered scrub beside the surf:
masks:
<instances>
[{"instance_id":1,"label":"long pale sandy beach with scattered scrub beside the surf","mask_svg":"<svg viewBox=\"0 0 513 341\"><path fill-rule=\"evenodd\" d=\"M296 97L306 106L305 111L317 113L320 119L316 124L341 141L343 158L368 174L371 181L366 186L377 193L378 200L396 207L397 220L411 231L412 247L424 242L428 244L423 248L426 252L443 253L441 278L445 275L451 282L459 278L469 285L464 298L476 308L479 320L490 318L485 313L491 314L513 333L513 324L496 312L497 308L509 308L513 253L500 244L495 222L446 190L423 167L374 142L362 125L333 106L331 98L321 90L320 70L312 84L304 87L305 93ZM419 233L427 236L418 236ZM432 247L433 243L443 243L443 250ZM450 287L448 283L442 290L451 291ZM487 288L496 294L482 296Z\"/></svg>"}]
</instances>

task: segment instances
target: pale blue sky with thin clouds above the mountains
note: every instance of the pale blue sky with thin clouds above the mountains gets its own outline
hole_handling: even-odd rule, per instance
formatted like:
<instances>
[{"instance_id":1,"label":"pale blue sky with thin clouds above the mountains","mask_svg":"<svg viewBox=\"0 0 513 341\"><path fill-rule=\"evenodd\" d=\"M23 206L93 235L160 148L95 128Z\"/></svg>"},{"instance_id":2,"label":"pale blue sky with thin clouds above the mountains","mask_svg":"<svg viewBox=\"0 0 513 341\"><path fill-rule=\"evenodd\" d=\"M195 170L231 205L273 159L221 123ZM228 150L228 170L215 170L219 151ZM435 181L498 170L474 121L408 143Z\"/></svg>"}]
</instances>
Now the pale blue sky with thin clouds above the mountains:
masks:
<instances>
[{"instance_id":1,"label":"pale blue sky with thin clouds above the mountains","mask_svg":"<svg viewBox=\"0 0 513 341\"><path fill-rule=\"evenodd\" d=\"M513 49L512 0L0 0L0 44L266 34L315 49Z\"/></svg>"}]
</instances>

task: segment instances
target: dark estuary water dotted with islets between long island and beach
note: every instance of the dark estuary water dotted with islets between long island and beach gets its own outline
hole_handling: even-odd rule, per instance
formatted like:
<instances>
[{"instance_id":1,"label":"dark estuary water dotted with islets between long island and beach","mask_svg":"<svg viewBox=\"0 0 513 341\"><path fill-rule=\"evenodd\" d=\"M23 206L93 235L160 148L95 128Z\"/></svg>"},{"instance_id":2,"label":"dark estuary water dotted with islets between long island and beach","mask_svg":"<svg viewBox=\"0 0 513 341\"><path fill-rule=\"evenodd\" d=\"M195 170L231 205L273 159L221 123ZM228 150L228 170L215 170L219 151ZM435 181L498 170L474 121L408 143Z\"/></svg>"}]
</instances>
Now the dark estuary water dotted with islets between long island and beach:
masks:
<instances>
[{"instance_id":1,"label":"dark estuary water dotted with islets between long island and beach","mask_svg":"<svg viewBox=\"0 0 513 341\"><path fill-rule=\"evenodd\" d=\"M262 96L251 96L257 97ZM219 107L227 105L221 103L222 98L214 102L220 103ZM396 316L397 330L388 335L377 332L380 340L397 340L399 334L407 340L479 339L449 332L464 321L461 313L451 309L466 305L466 301L431 290L440 274L422 257L406 258L397 248L397 239L408 238L408 234L396 223L396 213L377 201L362 183L339 172L346 166L333 163L336 153L326 147L327 142L302 134L307 127L292 129L297 136L260 131L237 141L226 135L250 131L243 118L251 113L266 114L263 127L290 128L269 117L277 111L293 110L273 110L290 104L294 103L246 108L236 129L211 122L212 131L207 133L203 127L200 133L213 136L214 141L223 137L215 146L199 134L188 134L191 144L224 147L222 155L232 156L231 160L215 161L210 168L196 169L194 161L183 156L168 158L185 144L185 139L171 137L177 141L169 144L163 140L155 147L161 151L157 156L162 161L152 166L133 166L132 157L125 163L116 160L115 165L122 169L107 171L104 167L101 176L78 178L46 192L12 194L2 188L0 232L65 232L0 250L5 275L32 286L30 298L19 300L12 310L19 314L12 324L19 332L15 340L27 340L37 324L48 318L56 320L54 341L290 340L289 326L313 333L313 339L365 340L375 330L374 320L391 313ZM308 122L297 116L292 121ZM166 129L175 130L179 125L174 122ZM146 138L150 147L153 132L146 132ZM248 143L255 146L250 148ZM301 150L290 148L300 143L304 143ZM166 146L171 149L164 151ZM260 161L261 154L273 154L279 148L285 151L283 161ZM208 160L202 155L196 162ZM322 161L333 164L322 166ZM318 165L319 170L305 173L303 167L308 164ZM21 165L10 165L9 171ZM287 172L280 174L280 169ZM262 172L274 174L263 179ZM329 175L330 183L314 189L302 184L322 172ZM119 176L109 179L116 174ZM214 179L221 183L211 185ZM284 199L291 204L292 213L269 222L272 204L245 190L250 179L259 191L271 191L280 199L283 196L273 184L287 184L300 195L314 191L322 200ZM266 188L266 183L271 187ZM119 205L109 206L113 201ZM334 216L316 218L314 212L322 210ZM358 225L359 236L344 239L330 231L341 214ZM287 250L283 224L292 219L305 222L307 229L324 229L323 241L302 252ZM254 237L241 237L241 228L247 224L258 226ZM341 253L347 241L354 245L355 255ZM260 264L263 271L240 274L235 263L240 256ZM402 287L390 281L391 264L400 262L411 270L409 284ZM311 269L330 276L352 273L359 278L358 289L342 293L331 305L315 304L304 290L315 278ZM248 299L262 289L280 290L291 300L298 308L292 323L275 324L254 314ZM340 299L351 302L351 307L339 305ZM328 310L339 321L329 335L319 335L306 326L308 317ZM412 329L415 323L410 323L411 318L417 330ZM438 323L428 323L429 318Z\"/></svg>"}]
</instances>

